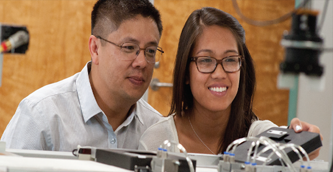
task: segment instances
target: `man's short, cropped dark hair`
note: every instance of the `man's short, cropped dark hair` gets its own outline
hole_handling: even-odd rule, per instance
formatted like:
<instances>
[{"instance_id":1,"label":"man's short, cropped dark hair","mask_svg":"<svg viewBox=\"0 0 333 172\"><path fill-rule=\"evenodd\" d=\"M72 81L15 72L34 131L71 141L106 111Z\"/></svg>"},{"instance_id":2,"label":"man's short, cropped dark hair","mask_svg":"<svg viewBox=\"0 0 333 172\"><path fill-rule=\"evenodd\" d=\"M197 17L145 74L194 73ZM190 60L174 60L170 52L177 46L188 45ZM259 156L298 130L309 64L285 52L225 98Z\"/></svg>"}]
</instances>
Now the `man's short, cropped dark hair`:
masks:
<instances>
[{"instance_id":1,"label":"man's short, cropped dark hair","mask_svg":"<svg viewBox=\"0 0 333 172\"><path fill-rule=\"evenodd\" d=\"M99 0L91 12L91 34L107 36L125 20L137 15L150 17L162 34L162 22L158 10L148 0Z\"/></svg>"}]
</instances>

